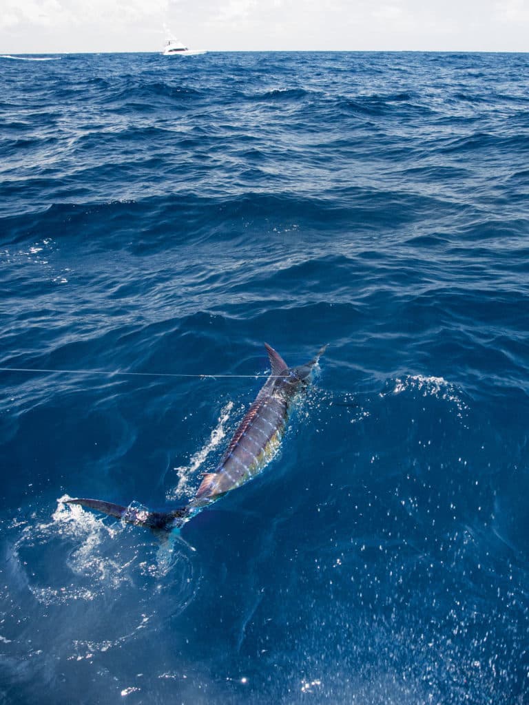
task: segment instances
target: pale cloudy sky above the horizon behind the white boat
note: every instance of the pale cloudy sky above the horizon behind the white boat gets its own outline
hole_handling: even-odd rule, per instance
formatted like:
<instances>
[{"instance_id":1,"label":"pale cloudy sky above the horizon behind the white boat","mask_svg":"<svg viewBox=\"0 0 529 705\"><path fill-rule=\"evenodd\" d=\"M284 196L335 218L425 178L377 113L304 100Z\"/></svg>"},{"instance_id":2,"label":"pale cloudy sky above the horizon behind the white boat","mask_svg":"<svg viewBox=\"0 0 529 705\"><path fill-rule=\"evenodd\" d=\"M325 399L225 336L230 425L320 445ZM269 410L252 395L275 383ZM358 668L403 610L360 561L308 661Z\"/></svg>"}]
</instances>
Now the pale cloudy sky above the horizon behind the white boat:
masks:
<instances>
[{"instance_id":1,"label":"pale cloudy sky above the horizon behind the white boat","mask_svg":"<svg viewBox=\"0 0 529 705\"><path fill-rule=\"evenodd\" d=\"M0 54L189 47L528 51L529 0L0 0Z\"/></svg>"}]
</instances>

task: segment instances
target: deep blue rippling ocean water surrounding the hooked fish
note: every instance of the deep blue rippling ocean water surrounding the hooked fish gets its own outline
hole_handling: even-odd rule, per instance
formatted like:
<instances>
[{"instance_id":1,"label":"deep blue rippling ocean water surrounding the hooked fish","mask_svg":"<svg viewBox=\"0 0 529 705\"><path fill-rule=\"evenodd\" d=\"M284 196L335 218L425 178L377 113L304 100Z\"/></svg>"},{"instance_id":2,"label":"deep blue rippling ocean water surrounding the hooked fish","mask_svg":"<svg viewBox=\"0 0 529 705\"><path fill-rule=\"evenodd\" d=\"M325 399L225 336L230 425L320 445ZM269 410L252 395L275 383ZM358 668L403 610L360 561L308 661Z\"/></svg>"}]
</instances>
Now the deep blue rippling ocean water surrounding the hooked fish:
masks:
<instances>
[{"instance_id":1,"label":"deep blue rippling ocean water surrounding the hooked fish","mask_svg":"<svg viewBox=\"0 0 529 705\"><path fill-rule=\"evenodd\" d=\"M0 59L0 702L529 701L529 55Z\"/></svg>"}]
</instances>

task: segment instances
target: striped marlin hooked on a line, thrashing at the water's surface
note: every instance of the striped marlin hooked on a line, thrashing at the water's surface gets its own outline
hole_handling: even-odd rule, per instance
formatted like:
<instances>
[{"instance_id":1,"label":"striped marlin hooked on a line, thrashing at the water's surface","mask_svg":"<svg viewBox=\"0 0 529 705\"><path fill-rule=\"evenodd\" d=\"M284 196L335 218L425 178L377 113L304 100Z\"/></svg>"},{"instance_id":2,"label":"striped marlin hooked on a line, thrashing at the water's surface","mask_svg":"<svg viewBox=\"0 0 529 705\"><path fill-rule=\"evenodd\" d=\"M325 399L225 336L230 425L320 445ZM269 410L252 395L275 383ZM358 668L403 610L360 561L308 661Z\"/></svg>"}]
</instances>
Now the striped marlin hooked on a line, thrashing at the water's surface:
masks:
<instances>
[{"instance_id":1,"label":"striped marlin hooked on a line, thrashing at the water's surface","mask_svg":"<svg viewBox=\"0 0 529 705\"><path fill-rule=\"evenodd\" d=\"M253 479L274 458L293 404L308 388L313 369L326 347L310 362L288 367L281 355L265 343L272 372L238 425L217 469L203 475L195 496L187 505L169 512L156 512L99 499L68 499L66 503L79 504L136 526L163 531L179 529L207 505Z\"/></svg>"}]
</instances>

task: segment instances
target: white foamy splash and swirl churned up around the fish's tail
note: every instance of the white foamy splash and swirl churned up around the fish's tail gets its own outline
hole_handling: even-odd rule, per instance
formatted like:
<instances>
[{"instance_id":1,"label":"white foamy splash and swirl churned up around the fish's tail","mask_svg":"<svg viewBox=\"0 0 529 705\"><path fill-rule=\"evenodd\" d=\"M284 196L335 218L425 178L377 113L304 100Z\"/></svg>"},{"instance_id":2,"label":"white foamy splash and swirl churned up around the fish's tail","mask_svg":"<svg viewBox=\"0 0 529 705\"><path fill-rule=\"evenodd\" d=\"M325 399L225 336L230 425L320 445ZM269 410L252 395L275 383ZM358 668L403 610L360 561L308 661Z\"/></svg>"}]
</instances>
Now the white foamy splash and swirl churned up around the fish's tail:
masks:
<instances>
[{"instance_id":1,"label":"white foamy splash and swirl churned up around the fish's tail","mask_svg":"<svg viewBox=\"0 0 529 705\"><path fill-rule=\"evenodd\" d=\"M193 549L184 541L175 535L157 543L149 532L130 533L121 522L109 525L79 505L67 505L67 499L59 498L51 522L25 523L11 548L11 558L39 603L92 603L111 594L121 599L138 585L157 595L176 587L171 613L192 599ZM43 558L50 548L53 563Z\"/></svg>"}]
</instances>

